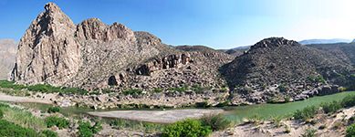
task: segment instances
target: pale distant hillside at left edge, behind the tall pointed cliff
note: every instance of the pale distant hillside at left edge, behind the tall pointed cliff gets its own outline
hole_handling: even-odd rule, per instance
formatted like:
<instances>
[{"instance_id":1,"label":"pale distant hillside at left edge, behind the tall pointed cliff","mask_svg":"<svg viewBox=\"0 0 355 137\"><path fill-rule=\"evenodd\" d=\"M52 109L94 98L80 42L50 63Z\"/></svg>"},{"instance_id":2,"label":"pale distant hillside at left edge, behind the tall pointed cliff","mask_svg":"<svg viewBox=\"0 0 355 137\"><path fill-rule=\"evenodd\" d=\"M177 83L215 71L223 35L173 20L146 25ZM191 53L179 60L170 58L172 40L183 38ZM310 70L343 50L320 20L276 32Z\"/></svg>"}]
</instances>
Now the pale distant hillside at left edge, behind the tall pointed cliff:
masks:
<instances>
[{"instance_id":1,"label":"pale distant hillside at left edge, behind the tall pointed cliff","mask_svg":"<svg viewBox=\"0 0 355 137\"><path fill-rule=\"evenodd\" d=\"M18 42L0 39L0 79L7 79L14 68Z\"/></svg>"}]
</instances>

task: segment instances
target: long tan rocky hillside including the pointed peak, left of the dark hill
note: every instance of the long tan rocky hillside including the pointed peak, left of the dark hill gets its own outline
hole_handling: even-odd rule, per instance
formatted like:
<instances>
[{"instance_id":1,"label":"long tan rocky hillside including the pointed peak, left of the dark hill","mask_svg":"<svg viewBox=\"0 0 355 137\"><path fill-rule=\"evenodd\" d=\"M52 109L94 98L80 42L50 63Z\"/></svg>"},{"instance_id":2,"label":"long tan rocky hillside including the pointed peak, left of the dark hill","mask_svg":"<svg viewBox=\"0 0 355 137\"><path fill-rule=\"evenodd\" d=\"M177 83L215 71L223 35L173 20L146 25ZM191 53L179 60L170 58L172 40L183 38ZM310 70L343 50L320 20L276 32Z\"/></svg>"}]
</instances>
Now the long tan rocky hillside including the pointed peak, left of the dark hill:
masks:
<instances>
[{"instance_id":1,"label":"long tan rocky hillside including the pointed peak, left of the dark hill","mask_svg":"<svg viewBox=\"0 0 355 137\"><path fill-rule=\"evenodd\" d=\"M172 47L147 32L98 18L78 25L53 3L21 38L11 80L96 89L221 87L218 68L233 59L212 48Z\"/></svg>"}]
</instances>

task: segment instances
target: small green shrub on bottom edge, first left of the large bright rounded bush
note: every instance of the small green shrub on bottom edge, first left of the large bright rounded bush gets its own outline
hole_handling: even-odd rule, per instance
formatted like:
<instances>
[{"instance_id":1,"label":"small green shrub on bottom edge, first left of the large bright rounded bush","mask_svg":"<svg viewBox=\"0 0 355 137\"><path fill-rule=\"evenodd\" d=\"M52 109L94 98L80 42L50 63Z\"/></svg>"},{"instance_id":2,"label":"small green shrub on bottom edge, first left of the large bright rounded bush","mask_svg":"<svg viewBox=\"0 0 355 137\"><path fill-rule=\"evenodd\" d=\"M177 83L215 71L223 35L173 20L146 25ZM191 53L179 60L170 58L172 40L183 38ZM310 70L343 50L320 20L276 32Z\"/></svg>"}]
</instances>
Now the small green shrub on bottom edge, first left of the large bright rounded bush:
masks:
<instances>
[{"instance_id":1,"label":"small green shrub on bottom edge, first left of the large bright rounded bush","mask_svg":"<svg viewBox=\"0 0 355 137\"><path fill-rule=\"evenodd\" d=\"M94 133L103 130L100 122L95 122L94 126L91 126L90 122L78 121L78 134L82 137L91 137Z\"/></svg>"}]
</instances>

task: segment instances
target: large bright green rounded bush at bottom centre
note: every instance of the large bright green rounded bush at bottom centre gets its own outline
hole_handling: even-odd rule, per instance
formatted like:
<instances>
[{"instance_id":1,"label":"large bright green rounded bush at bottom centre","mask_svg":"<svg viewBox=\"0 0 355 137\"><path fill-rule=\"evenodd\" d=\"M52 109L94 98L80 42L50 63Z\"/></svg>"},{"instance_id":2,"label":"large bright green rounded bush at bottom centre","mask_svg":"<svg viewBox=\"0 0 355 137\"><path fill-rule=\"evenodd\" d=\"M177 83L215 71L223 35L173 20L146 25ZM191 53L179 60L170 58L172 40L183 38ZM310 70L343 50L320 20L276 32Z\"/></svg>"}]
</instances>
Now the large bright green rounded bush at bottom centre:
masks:
<instances>
[{"instance_id":1,"label":"large bright green rounded bush at bottom centre","mask_svg":"<svg viewBox=\"0 0 355 137\"><path fill-rule=\"evenodd\" d=\"M201 137L212 133L209 126L203 126L196 119L186 119L176 121L166 127L162 132L162 137Z\"/></svg>"}]
</instances>

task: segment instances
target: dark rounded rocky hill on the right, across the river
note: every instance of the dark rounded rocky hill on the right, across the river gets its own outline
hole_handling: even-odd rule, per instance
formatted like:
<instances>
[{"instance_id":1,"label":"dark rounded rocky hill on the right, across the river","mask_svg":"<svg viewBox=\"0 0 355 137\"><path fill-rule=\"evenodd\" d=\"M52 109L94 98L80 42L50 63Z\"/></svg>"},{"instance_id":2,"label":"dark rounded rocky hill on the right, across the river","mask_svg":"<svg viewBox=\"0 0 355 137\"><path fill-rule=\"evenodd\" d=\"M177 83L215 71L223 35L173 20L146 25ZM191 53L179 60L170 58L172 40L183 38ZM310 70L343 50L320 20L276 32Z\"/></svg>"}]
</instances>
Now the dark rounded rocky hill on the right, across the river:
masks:
<instances>
[{"instance_id":1,"label":"dark rounded rocky hill on the right, across the river","mask_svg":"<svg viewBox=\"0 0 355 137\"><path fill-rule=\"evenodd\" d=\"M350 77L353 68L328 52L271 37L257 42L221 71L228 85L235 88L235 96L265 101L276 96L296 100L327 84L346 86L340 76Z\"/></svg>"}]
</instances>

